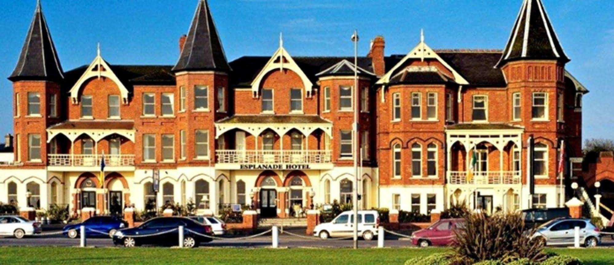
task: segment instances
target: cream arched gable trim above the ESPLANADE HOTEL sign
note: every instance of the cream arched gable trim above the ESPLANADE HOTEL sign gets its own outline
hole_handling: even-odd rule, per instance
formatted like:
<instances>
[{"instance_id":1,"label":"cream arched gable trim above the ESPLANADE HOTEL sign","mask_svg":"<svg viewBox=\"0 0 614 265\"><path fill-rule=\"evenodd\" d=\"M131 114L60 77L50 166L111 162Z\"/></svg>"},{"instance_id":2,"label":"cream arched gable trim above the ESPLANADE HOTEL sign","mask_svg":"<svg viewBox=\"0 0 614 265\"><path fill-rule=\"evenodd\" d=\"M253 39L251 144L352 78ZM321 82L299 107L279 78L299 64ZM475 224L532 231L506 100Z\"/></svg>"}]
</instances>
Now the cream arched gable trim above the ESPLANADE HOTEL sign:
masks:
<instances>
[{"instance_id":1,"label":"cream arched gable trim above the ESPLANADE HOTEL sign","mask_svg":"<svg viewBox=\"0 0 614 265\"><path fill-rule=\"evenodd\" d=\"M284 61L285 60L285 61ZM273 57L266 63L265 67L260 70L260 73L256 76L254 81L252 82L252 94L253 97L258 97L258 90L260 90L260 84L262 83L262 79L268 74L270 71L275 69L279 69L279 71L284 71L284 69L288 69L297 73L298 76L303 81L303 86L305 87L305 97L311 97L311 89L313 87L313 83L309 80L303 70L298 67L297 63L290 57L290 53L284 49L284 42L281 39L281 35L279 37L279 49L275 53L273 53Z\"/></svg>"}]
</instances>

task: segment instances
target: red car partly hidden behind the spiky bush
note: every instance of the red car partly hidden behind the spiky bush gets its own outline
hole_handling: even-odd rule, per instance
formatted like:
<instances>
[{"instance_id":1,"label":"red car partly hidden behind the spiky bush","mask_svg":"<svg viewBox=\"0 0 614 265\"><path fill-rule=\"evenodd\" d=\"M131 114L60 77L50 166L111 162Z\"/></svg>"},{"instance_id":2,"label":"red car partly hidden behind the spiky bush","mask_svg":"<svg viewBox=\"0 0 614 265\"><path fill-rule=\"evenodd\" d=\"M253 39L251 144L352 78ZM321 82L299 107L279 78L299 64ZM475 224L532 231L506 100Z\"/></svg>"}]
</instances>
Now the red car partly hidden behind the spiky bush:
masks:
<instances>
[{"instance_id":1,"label":"red car partly hidden behind the spiky bush","mask_svg":"<svg viewBox=\"0 0 614 265\"><path fill-rule=\"evenodd\" d=\"M454 229L465 224L463 219L442 219L428 228L411 234L411 243L418 247L448 246L454 243Z\"/></svg>"}]
</instances>

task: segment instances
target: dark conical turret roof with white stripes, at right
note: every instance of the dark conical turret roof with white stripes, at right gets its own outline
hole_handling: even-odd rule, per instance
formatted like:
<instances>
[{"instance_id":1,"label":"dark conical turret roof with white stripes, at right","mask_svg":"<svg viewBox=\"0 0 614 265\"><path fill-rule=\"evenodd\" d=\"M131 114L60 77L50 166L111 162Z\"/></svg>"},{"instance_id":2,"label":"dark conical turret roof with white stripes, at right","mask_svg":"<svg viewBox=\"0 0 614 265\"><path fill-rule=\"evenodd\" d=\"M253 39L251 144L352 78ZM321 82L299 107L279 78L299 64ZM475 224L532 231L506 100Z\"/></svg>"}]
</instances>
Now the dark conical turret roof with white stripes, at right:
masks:
<instances>
[{"instance_id":1,"label":"dark conical turret roof with white stripes, at right","mask_svg":"<svg viewBox=\"0 0 614 265\"><path fill-rule=\"evenodd\" d=\"M497 67L523 59L569 61L542 0L524 0Z\"/></svg>"}]
</instances>

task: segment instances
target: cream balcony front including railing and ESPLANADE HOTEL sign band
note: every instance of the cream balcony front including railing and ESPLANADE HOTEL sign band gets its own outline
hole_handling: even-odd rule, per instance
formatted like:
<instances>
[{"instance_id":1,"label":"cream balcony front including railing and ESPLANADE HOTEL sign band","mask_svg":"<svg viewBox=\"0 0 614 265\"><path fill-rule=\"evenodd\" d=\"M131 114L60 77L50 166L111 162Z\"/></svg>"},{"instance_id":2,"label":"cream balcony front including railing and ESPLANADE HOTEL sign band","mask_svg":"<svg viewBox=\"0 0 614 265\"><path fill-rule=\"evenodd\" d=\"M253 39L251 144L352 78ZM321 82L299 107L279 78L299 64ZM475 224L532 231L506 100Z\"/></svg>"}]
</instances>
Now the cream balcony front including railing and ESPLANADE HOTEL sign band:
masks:
<instances>
[{"instance_id":1,"label":"cream balcony front including railing and ESPLANADE HOTEL sign band","mask_svg":"<svg viewBox=\"0 0 614 265\"><path fill-rule=\"evenodd\" d=\"M217 150L216 168L243 170L330 169L330 150Z\"/></svg>"}]
</instances>

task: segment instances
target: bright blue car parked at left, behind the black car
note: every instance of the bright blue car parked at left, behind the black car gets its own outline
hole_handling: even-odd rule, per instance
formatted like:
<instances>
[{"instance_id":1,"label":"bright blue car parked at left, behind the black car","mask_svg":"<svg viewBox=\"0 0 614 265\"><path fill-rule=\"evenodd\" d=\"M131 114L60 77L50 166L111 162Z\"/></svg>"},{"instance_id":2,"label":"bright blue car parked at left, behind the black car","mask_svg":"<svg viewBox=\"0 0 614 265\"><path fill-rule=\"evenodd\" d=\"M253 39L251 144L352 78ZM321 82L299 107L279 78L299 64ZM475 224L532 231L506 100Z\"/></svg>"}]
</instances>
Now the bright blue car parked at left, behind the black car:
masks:
<instances>
[{"instance_id":1,"label":"bright blue car parked at left, behind the black car","mask_svg":"<svg viewBox=\"0 0 614 265\"><path fill-rule=\"evenodd\" d=\"M85 226L86 237L112 237L115 231L127 227L127 223L114 216L94 216L83 223L64 226L64 235L71 239L79 237L80 227Z\"/></svg>"}]
</instances>

